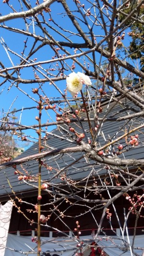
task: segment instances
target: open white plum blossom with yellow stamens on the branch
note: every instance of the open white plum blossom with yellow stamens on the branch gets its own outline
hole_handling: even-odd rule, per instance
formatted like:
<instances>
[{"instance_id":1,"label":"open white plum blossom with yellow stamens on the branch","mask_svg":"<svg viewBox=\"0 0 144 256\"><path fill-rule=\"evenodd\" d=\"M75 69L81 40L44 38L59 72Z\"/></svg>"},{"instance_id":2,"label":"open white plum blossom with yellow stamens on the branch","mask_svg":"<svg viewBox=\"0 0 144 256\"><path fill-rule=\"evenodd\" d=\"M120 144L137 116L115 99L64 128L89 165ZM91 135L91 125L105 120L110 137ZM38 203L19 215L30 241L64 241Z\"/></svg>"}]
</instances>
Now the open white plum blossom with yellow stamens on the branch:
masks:
<instances>
[{"instance_id":1,"label":"open white plum blossom with yellow stamens on the branch","mask_svg":"<svg viewBox=\"0 0 144 256\"><path fill-rule=\"evenodd\" d=\"M74 96L76 93L78 93L83 88L83 84L85 85L91 85L91 80L89 76L78 72L72 72L69 74L69 76L66 78L67 81L67 89L68 91Z\"/></svg>"}]
</instances>

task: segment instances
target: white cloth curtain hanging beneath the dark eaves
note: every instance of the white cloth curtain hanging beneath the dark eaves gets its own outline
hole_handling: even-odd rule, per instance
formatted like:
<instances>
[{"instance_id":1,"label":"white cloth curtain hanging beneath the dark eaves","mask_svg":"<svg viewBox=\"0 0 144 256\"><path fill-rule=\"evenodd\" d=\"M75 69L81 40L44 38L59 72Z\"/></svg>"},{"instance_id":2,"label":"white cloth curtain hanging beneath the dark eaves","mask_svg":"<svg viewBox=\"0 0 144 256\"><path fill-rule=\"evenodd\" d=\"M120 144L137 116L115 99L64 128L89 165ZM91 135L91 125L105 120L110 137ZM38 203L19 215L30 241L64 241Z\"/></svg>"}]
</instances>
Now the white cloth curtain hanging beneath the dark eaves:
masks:
<instances>
[{"instance_id":1,"label":"white cloth curtain hanging beneath the dark eaves","mask_svg":"<svg viewBox=\"0 0 144 256\"><path fill-rule=\"evenodd\" d=\"M83 236L80 237L81 240L85 240L86 243L91 244L89 240L92 240L92 236ZM130 251L125 252L122 254L122 250L119 248L114 248L116 245L118 245L120 248L124 247L123 242L118 239L118 237L113 237L112 239L108 238L107 241L103 237L100 237L100 241L96 241L97 244L100 247L104 247L104 251L109 255L109 256L133 256ZM132 236L129 236L130 238L130 244L132 244ZM69 240L68 238L48 238L48 237L42 237L42 242L43 241L48 241L48 243L45 243L41 246L42 252L49 251L51 255L58 254L61 256L73 256L75 255L75 250L76 250L76 245L77 242ZM88 242L89 241L89 242ZM8 248L14 249L14 250L20 250L22 252L28 252L31 249L34 249L36 252L36 243L33 243L31 241L31 236L17 236L13 234L8 234L8 239L7 239L7 244L6 246ZM106 247L105 247L106 246ZM134 246L137 247L144 247L144 235L138 235L135 237L135 242ZM84 248L86 249L86 248ZM60 254L60 251L63 251ZM139 256L142 256L143 250L134 250ZM16 251L12 251L9 249L5 250L5 255L4 256L22 256L21 253L18 253ZM31 255L36 255L36 254L28 254L29 256Z\"/></svg>"}]
</instances>

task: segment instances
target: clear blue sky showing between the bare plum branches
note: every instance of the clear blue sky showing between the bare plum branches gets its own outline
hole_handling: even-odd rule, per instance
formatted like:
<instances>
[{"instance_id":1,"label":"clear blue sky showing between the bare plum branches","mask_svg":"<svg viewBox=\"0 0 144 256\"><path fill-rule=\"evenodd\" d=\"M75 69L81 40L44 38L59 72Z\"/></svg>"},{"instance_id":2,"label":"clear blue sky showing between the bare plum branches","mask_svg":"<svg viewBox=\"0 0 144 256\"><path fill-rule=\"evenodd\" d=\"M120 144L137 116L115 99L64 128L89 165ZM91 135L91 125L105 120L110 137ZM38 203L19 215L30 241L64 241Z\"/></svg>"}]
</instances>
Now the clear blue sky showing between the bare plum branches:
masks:
<instances>
[{"instance_id":1,"label":"clear blue sky showing between the bare plum branches","mask_svg":"<svg viewBox=\"0 0 144 256\"><path fill-rule=\"evenodd\" d=\"M40 3L42 2L39 1ZM16 10L18 10L18 6L14 6L17 5L18 1L9 1L10 4L13 5L14 8L16 8ZM33 3L33 7L35 6L35 1L31 1L31 3ZM76 10L76 7L73 3L73 1L70 1L70 7L72 7L73 10ZM51 6L51 14L53 17L56 17L56 22L63 27L64 29L66 29L68 32L64 32L65 36L69 37L70 39L72 39L73 42L83 42L81 37L75 36L74 34L71 35L70 31L72 31L73 33L77 33L76 29L73 29L72 23L70 23L70 20L68 19L67 15L63 12L63 9L61 7L61 4L59 5L60 10L58 11L58 2L55 2L52 6ZM90 5L89 3L87 3L87 8L89 8ZM21 9L19 8L19 11L21 11ZM8 14L10 11L10 8L7 6L7 4L3 4L2 2L0 2L0 12L2 13L2 15L4 14ZM79 15L77 12L75 13L75 15ZM46 13L46 18L47 21L49 19L49 14ZM82 27L84 29L84 32L87 33L88 29L87 27L81 23L81 21L79 21L80 24L82 24ZM55 26L52 22L50 23L50 25ZM23 19L15 19L12 21L8 21L6 22L6 25L8 26L13 26L13 27L17 27L20 29L25 29L25 25L24 25L24 21ZM90 25L92 25L92 23L90 22ZM56 29L58 29L57 26L55 26ZM33 32L33 26L31 25L29 28L29 32ZM41 33L40 30L38 28L36 28L36 35L38 35L38 33ZM52 32L52 30L50 28L48 28L48 33L51 34L54 38L56 38L56 40L63 40L63 38L59 35L57 35L54 31ZM100 27L97 27L96 30L96 34L98 35L104 35L104 31L102 29L100 29ZM11 31L5 30L5 29L1 29L0 28L0 37L3 37L5 43L7 44L7 46L14 52L17 52L19 55L22 55L21 52L24 49L24 40L27 39L26 36L22 35L22 34L18 34L18 33L12 33ZM101 39L101 37L96 37L97 42ZM128 45L130 42L130 37L126 36L125 37L125 45ZM33 44L34 44L34 38L28 37L27 39L27 48L25 48L24 50L24 54L27 56L29 50L32 48ZM37 46L39 45L39 43L37 43ZM71 54L73 54L73 49L68 49ZM16 57L14 54L10 53L10 57L12 59L13 65L17 65L19 64L19 58ZM124 53L123 57L125 57ZM49 48L49 46L45 46L42 49L40 49L38 51L38 53L34 54L31 57L31 60L34 60L34 58L37 58L37 61L46 61L48 59L51 59L53 56L53 51ZM122 57L122 56L121 56ZM83 59L84 57L82 57ZM3 49L2 45L0 44L0 61L4 63L5 67L11 67L12 63L11 61L8 59L7 54L5 52L5 50ZM83 59L84 61L84 59ZM99 54L96 55L96 61L98 64L99 61ZM72 60L67 61L67 63L69 65L72 65ZM43 67L48 69L48 68L56 68L55 66L56 63L52 63L51 66L49 66L49 64L45 64ZM76 65L76 69L74 70L75 72L80 71L83 72L82 69L80 70L79 68L77 68ZM10 71L11 73L11 71ZM36 72L36 74L38 74ZM69 74L69 73L65 73L65 74ZM38 74L40 78L42 78L41 74ZM14 74L14 76L16 76L16 74ZM24 68L23 70L21 70L21 78L25 78L25 79L34 79L34 71L33 68ZM3 79L0 77L0 83L3 81ZM66 88L66 81L59 81L57 82L57 85L60 87L60 90L63 92L63 90ZM29 94L31 97L36 98L36 100L38 101L38 97L36 95L34 95L32 93L32 88L38 87L38 85L36 84L20 84L19 87L21 88L21 90L23 90L25 93ZM10 90L8 90L10 88ZM48 98L57 98L60 97L60 94L58 93L58 91L52 86L49 85L49 83L45 83L43 85L43 90L45 91L45 93L47 94ZM31 108L31 107L36 107L37 103L33 100L28 98L26 95L24 95L24 93L22 93L20 90L18 90L17 87L15 87L14 85L12 85L11 83L5 83L4 85L2 85L0 87L0 96L1 96L1 102L0 102L0 115L2 116L2 112L4 111L5 113L10 109L13 110L14 108L16 108L17 110L22 109L22 108ZM70 96L70 95L69 95ZM13 104L12 104L13 102ZM12 106L11 106L12 105ZM48 112L46 112L45 110L43 110L42 112L42 123L47 122L47 120L50 120L48 117L48 113L52 116L52 119L55 120L55 114L49 110ZM18 120L20 119L20 115L21 115L21 123L24 125L33 125L33 124L37 124L37 121L35 120L35 116L38 115L38 110L33 109L33 110L24 110L23 112L19 111L15 114L18 117ZM51 129L53 129L53 127L48 127L48 131L50 132ZM37 136L36 132L33 130L27 130L25 131L26 135L31 135L31 136Z\"/></svg>"}]
</instances>

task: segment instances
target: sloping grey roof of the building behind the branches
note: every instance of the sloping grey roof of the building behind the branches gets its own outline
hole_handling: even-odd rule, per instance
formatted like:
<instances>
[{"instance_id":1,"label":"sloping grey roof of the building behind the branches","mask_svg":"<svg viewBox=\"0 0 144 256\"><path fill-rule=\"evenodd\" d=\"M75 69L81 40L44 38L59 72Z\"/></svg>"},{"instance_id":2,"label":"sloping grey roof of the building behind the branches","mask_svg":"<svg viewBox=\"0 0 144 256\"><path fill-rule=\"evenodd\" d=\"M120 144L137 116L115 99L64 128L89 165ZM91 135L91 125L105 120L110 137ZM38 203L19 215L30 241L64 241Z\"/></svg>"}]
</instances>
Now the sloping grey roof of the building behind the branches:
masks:
<instances>
[{"instance_id":1,"label":"sloping grey roof of the building behind the branches","mask_svg":"<svg viewBox=\"0 0 144 256\"><path fill-rule=\"evenodd\" d=\"M125 99L123 99L123 102L125 102ZM109 108L112 106L113 102L110 103ZM129 105L132 105L131 103ZM100 114L99 117L103 117L105 114L105 109L108 106L108 100L103 101L103 112ZM108 109L109 109L108 108ZM114 116L114 117L121 117L124 116L128 113L128 110L125 110L123 107L123 112L119 112L121 110L120 105L116 105L112 111L108 114L108 117ZM131 111L129 110L129 113ZM83 113L83 116L85 117L85 113ZM91 109L91 114L90 117L93 118L93 110ZM142 124L143 120L135 120L134 125L136 124L137 126ZM88 122L83 122L84 129L88 131ZM130 120L128 123L127 121L121 121L121 122L104 122L102 131L105 135L105 139L108 141L109 138L117 137L125 132L125 128L129 129L133 125L133 120ZM64 129L67 131L67 126L65 124L60 125L64 127ZM77 132L80 132L81 129L78 126L78 123L72 124L72 126L76 129ZM125 126L125 127L124 127ZM69 146L76 146L76 144L71 143L69 141L66 141L64 138L69 138L69 135L65 131L65 133L60 133L61 128L55 129L52 131L53 134L60 135L63 139L60 139L58 137L53 137L52 135L48 135L48 140L47 144L49 149L52 148L64 148L64 147L69 147ZM62 131L62 130L61 130ZM144 129L142 129L139 134L139 138L142 143L139 144L137 147L133 147L131 150L127 151L124 153L125 158L136 158L136 159L141 159L144 158L144 146L143 146L143 141L144 141L144 135L143 135ZM118 134L117 134L118 133ZM105 144L105 140L102 135L99 135L99 143L100 145ZM120 141L120 143L124 143L124 139ZM119 144L119 143L118 143ZM51 150L51 149L50 149ZM31 146L29 149L24 151L18 158L30 156L32 154L38 153L38 145L34 144ZM52 176L56 173L55 169L60 170L62 168L65 168L67 165L71 164L74 162L75 159L78 159L82 156L82 152L78 153L69 153L69 154L64 154L64 155L57 155L57 156L50 156L47 158L44 158L44 162L46 162L49 166L52 166L53 170L48 171L46 167L42 167L42 180L49 180L52 178ZM123 155L120 155L121 158L123 158ZM32 160L30 162L27 162L23 164L23 167L25 168L28 173L31 173L31 175L36 175L38 173L38 162L36 160ZM19 171L23 171L20 166L17 166ZM99 165L96 162L89 160L87 162L85 158L80 159L77 163L73 164L71 167L68 167L67 169L67 174L71 177L71 179L74 180L82 180L85 177L87 177L90 173L91 176L96 175L96 172L98 171L99 174L104 174L106 172L104 165ZM0 200L4 200L7 193L12 193L11 188L8 184L8 181L6 179L6 176L4 174L6 172L7 178L9 179L9 182L12 185L12 189L14 190L15 193L26 193L28 191L33 191L35 190L34 187L28 186L26 183L22 183L18 181L17 175L14 175L14 169L12 167L9 167L7 169L1 170L0 171ZM55 178L52 181L53 183L60 183L61 180L59 178ZM33 183L32 183L33 184ZM36 185L36 183L34 183ZM4 188L4 187L5 188ZM6 189L6 190L5 190Z\"/></svg>"}]
</instances>

